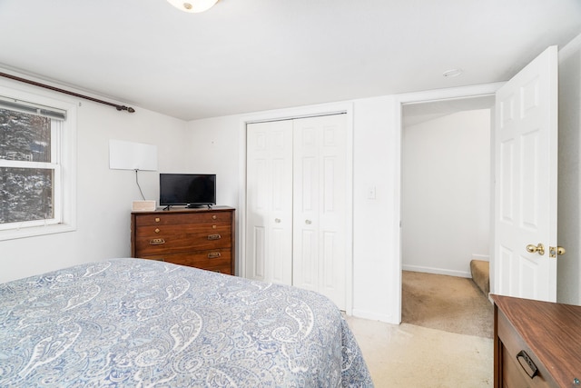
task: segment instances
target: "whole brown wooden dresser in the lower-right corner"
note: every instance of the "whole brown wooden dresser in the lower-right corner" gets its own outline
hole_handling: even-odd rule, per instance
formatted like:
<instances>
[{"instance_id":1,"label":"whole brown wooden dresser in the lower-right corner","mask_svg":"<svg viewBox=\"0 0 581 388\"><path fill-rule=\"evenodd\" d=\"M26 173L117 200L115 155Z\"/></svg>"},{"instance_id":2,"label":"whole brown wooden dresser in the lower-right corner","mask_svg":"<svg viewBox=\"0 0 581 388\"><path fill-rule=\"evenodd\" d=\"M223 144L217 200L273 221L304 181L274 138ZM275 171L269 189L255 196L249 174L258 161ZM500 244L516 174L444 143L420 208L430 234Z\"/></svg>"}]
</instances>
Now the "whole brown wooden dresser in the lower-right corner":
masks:
<instances>
[{"instance_id":1,"label":"whole brown wooden dresser in the lower-right corner","mask_svg":"<svg viewBox=\"0 0 581 388\"><path fill-rule=\"evenodd\" d=\"M494 386L581 386L581 306L491 295Z\"/></svg>"}]
</instances>

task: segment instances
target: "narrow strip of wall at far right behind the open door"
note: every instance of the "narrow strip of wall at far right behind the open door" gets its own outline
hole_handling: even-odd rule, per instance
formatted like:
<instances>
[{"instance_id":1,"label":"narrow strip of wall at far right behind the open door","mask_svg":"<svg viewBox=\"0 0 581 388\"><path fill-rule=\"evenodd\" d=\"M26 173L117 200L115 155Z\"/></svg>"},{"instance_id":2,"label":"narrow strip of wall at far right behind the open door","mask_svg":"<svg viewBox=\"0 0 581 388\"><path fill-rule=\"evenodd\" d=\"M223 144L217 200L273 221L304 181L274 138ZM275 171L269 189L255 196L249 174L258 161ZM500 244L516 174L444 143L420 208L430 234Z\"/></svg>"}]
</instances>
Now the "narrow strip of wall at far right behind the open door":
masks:
<instances>
[{"instance_id":1,"label":"narrow strip of wall at far right behind the open door","mask_svg":"<svg viewBox=\"0 0 581 388\"><path fill-rule=\"evenodd\" d=\"M559 51L558 244L556 299L581 304L581 35Z\"/></svg>"}]
</instances>

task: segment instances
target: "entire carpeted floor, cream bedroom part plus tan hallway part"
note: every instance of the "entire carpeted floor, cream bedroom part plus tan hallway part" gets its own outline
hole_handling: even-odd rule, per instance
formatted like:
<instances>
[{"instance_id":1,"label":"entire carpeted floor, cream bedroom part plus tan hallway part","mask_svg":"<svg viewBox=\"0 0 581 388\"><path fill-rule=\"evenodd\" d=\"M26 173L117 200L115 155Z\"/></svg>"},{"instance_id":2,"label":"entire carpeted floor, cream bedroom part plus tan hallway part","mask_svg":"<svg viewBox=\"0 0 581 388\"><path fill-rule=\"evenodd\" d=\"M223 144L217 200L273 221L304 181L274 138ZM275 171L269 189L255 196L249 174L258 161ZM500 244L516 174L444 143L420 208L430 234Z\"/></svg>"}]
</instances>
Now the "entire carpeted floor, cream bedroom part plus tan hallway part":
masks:
<instances>
[{"instance_id":1,"label":"entire carpeted floor, cream bedroom part plus tan hallway part","mask_svg":"<svg viewBox=\"0 0 581 388\"><path fill-rule=\"evenodd\" d=\"M492 304L484 293L470 279L402 276L401 324L347 318L375 386L492 387Z\"/></svg>"}]
</instances>

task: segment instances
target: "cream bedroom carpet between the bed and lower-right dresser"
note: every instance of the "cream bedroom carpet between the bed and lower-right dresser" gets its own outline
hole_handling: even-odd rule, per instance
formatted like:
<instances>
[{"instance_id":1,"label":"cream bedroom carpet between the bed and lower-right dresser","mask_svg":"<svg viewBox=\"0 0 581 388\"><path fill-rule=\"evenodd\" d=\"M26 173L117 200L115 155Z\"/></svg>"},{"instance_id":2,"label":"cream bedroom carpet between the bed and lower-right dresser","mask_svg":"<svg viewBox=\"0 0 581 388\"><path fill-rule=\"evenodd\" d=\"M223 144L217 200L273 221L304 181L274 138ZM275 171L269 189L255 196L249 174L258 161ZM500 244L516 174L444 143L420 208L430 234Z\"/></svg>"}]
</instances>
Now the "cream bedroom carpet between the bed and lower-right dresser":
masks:
<instances>
[{"instance_id":1,"label":"cream bedroom carpet between the bed and lower-right dresser","mask_svg":"<svg viewBox=\"0 0 581 388\"><path fill-rule=\"evenodd\" d=\"M492 387L493 341L348 317L376 388Z\"/></svg>"}]
</instances>

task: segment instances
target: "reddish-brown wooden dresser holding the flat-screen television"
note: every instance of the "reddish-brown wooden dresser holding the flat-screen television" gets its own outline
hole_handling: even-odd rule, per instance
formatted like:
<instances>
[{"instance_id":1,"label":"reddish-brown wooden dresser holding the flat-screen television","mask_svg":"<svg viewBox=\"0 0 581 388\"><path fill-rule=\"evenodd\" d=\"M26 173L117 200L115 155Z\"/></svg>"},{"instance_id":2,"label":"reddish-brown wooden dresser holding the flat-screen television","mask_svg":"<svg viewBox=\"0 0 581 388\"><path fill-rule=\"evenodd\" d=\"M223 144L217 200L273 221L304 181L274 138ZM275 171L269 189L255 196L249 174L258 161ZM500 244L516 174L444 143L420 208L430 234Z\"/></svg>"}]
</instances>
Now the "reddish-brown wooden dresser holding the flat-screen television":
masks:
<instances>
[{"instance_id":1,"label":"reddish-brown wooden dresser holding the flat-screen television","mask_svg":"<svg viewBox=\"0 0 581 388\"><path fill-rule=\"evenodd\" d=\"M234 209L177 209L131 214L132 256L234 272Z\"/></svg>"}]
</instances>

